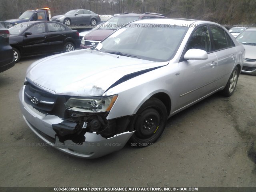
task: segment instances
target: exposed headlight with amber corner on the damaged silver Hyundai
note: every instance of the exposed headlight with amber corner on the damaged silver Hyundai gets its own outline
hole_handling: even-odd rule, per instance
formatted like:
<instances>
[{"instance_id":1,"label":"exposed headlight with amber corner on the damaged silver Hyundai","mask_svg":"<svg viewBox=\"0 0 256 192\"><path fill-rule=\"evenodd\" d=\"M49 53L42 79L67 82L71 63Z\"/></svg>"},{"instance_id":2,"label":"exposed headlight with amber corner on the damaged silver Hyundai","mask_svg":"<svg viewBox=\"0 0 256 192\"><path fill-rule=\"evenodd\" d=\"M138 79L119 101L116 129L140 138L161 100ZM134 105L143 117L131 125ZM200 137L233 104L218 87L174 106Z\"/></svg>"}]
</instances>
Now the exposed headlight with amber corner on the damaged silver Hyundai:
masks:
<instances>
[{"instance_id":1,"label":"exposed headlight with amber corner on the damaged silver Hyundai","mask_svg":"<svg viewBox=\"0 0 256 192\"><path fill-rule=\"evenodd\" d=\"M111 110L117 97L118 95L96 98L71 97L65 106L67 109L80 112L105 112Z\"/></svg>"}]
</instances>

